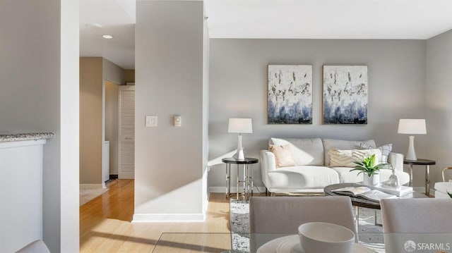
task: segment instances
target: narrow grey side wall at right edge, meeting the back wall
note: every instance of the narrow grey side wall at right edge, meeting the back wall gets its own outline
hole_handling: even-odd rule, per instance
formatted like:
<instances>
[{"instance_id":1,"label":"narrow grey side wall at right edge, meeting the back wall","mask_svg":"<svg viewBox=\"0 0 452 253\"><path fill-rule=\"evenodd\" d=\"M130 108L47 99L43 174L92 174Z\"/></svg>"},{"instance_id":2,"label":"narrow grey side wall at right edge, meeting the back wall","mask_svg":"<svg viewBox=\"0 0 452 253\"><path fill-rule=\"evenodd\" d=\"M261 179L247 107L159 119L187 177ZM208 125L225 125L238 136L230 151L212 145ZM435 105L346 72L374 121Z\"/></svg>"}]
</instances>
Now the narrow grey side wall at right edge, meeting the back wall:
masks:
<instances>
[{"instance_id":1,"label":"narrow grey side wall at right edge, meeting the back wall","mask_svg":"<svg viewBox=\"0 0 452 253\"><path fill-rule=\"evenodd\" d=\"M430 180L437 182L441 170L452 166L452 30L427 40L426 77L426 157L436 161Z\"/></svg>"}]
</instances>

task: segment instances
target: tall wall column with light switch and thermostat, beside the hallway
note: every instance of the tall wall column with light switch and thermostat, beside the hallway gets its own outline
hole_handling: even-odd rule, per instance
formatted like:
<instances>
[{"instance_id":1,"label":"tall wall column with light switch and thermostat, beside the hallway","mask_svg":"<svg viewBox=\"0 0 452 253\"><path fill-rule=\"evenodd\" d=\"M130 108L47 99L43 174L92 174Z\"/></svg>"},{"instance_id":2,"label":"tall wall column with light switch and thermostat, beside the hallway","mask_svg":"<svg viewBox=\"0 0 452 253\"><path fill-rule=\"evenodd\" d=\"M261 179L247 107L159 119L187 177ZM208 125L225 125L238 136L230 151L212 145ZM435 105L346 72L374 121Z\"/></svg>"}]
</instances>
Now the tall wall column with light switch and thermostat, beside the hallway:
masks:
<instances>
[{"instance_id":1,"label":"tall wall column with light switch and thermostat, beside the hallway","mask_svg":"<svg viewBox=\"0 0 452 253\"><path fill-rule=\"evenodd\" d=\"M203 165L203 1L137 1L135 215L199 220ZM145 116L158 126L145 127ZM173 125L182 116L182 127Z\"/></svg>"}]
</instances>

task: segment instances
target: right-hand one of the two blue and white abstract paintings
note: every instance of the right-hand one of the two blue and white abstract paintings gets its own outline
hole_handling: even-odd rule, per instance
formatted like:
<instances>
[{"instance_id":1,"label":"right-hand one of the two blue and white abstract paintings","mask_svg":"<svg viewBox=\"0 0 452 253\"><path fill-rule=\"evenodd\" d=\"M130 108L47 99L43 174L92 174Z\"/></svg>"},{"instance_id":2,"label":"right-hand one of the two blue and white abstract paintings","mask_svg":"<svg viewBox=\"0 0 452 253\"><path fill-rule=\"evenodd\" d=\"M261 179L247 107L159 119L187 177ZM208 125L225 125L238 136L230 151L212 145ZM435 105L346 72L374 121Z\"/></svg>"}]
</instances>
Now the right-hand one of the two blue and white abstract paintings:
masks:
<instances>
[{"instance_id":1,"label":"right-hand one of the two blue and white abstract paintings","mask_svg":"<svg viewBox=\"0 0 452 253\"><path fill-rule=\"evenodd\" d=\"M323 124L367 124L367 66L323 66Z\"/></svg>"}]
</instances>

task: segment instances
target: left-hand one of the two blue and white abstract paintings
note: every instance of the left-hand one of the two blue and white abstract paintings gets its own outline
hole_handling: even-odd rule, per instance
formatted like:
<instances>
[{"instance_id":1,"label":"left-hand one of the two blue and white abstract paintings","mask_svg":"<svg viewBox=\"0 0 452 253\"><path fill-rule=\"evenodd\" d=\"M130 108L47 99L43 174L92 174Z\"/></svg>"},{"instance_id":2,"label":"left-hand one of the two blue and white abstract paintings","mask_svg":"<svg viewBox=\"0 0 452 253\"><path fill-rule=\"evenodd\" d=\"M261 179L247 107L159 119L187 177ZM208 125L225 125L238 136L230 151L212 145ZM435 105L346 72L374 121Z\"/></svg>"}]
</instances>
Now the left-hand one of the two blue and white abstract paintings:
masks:
<instances>
[{"instance_id":1,"label":"left-hand one of the two blue and white abstract paintings","mask_svg":"<svg viewBox=\"0 0 452 253\"><path fill-rule=\"evenodd\" d=\"M268 66L268 123L312 124L312 66Z\"/></svg>"}]
</instances>

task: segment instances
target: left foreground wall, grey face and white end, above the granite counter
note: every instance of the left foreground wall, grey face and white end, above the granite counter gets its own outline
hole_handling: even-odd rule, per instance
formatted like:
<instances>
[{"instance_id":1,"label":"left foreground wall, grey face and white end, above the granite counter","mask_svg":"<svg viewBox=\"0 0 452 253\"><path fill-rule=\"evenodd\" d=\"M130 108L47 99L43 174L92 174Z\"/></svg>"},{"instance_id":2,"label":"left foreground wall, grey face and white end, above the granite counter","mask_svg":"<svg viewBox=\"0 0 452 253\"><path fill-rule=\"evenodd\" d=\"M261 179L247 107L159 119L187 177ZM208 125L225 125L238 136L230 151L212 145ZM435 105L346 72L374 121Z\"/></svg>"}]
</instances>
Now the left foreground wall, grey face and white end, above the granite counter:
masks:
<instances>
[{"instance_id":1,"label":"left foreground wall, grey face and white end, above the granite counter","mask_svg":"<svg viewBox=\"0 0 452 253\"><path fill-rule=\"evenodd\" d=\"M0 1L0 38L0 130L56 134L43 237L51 252L78 252L78 1Z\"/></svg>"}]
</instances>

